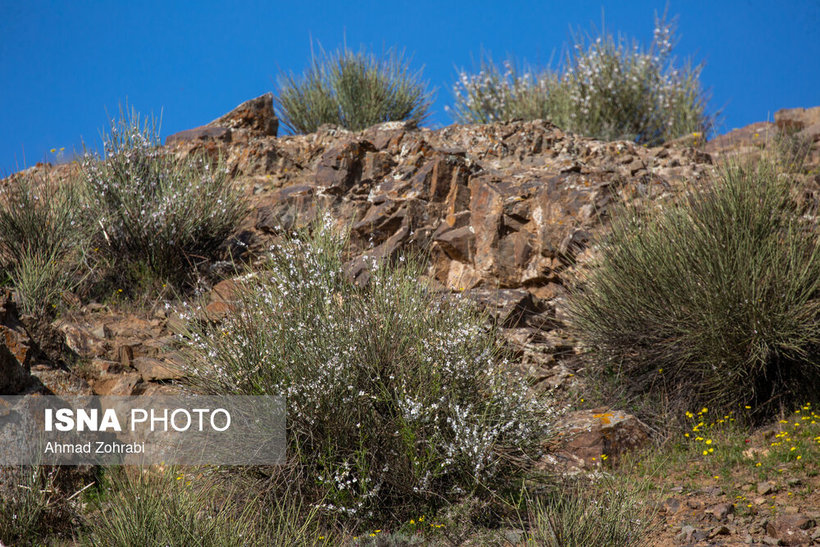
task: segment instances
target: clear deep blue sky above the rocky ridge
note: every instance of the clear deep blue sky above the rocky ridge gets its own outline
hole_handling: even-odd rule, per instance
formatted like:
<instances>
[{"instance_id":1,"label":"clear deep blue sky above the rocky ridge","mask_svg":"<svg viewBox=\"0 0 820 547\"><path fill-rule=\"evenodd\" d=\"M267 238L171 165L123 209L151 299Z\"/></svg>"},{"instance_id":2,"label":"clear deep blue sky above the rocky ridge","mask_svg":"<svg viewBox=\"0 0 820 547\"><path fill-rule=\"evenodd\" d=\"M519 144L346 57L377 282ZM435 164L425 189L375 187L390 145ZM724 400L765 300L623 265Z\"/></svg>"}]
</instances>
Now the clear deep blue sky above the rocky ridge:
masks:
<instances>
[{"instance_id":1,"label":"clear deep blue sky above the rocky ridge","mask_svg":"<svg viewBox=\"0 0 820 547\"><path fill-rule=\"evenodd\" d=\"M333 49L404 48L437 88L431 125L451 123L455 67L479 53L546 63L570 28L643 42L665 1L174 2L0 0L0 175L96 146L126 99L162 112L162 135L202 125L301 72L311 39ZM670 0L679 57L704 60L722 131L780 108L820 105L818 0Z\"/></svg>"}]
</instances>

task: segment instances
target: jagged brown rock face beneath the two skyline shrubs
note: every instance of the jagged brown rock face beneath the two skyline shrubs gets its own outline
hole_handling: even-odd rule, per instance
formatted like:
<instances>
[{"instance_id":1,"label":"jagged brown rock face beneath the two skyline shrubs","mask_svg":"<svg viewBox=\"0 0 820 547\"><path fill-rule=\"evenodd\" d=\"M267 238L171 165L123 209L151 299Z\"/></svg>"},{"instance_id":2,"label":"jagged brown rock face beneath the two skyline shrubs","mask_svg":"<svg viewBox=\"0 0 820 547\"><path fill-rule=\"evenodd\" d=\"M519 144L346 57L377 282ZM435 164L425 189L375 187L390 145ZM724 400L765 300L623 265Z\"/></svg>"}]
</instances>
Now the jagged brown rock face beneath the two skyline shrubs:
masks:
<instances>
[{"instance_id":1,"label":"jagged brown rock face beneath the two skyline shrubs","mask_svg":"<svg viewBox=\"0 0 820 547\"><path fill-rule=\"evenodd\" d=\"M562 292L614 202L670 194L712 168L695 148L603 143L543 121L438 131L388 123L355 134L324 127L216 145L253 185L252 228L263 239L330 209L361 253L423 247L443 287L523 289L539 299ZM177 151L213 146L189 141Z\"/></svg>"}]
</instances>

